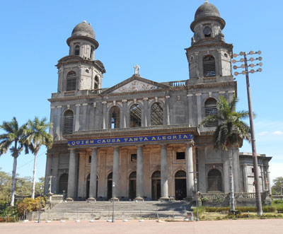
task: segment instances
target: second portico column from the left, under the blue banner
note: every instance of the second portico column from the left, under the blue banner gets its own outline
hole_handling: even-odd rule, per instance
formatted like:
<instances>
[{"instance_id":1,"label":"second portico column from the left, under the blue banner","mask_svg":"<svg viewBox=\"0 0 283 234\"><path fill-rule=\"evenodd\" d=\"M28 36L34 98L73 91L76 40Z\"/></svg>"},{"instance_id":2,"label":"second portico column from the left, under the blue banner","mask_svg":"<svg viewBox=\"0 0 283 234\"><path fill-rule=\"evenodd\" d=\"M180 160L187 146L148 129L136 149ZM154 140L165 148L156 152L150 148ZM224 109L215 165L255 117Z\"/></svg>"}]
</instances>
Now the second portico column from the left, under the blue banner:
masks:
<instances>
[{"instance_id":1,"label":"second portico column from the left, under the blue banner","mask_svg":"<svg viewBox=\"0 0 283 234\"><path fill-rule=\"evenodd\" d=\"M90 201L96 201L96 174L97 174L98 148L93 148L91 151L91 178L89 185Z\"/></svg>"}]
</instances>

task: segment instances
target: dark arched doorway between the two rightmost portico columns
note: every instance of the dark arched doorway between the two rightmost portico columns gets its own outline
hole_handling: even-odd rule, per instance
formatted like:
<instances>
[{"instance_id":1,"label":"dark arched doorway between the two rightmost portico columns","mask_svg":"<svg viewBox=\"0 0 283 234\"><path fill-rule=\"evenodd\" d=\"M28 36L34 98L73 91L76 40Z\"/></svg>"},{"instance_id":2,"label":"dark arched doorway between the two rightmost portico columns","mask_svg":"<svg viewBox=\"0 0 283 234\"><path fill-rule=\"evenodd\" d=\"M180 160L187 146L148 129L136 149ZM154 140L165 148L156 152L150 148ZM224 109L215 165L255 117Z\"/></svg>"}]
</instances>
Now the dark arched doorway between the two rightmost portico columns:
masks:
<instances>
[{"instance_id":1,"label":"dark arched doorway between the two rightmost portico columns","mask_svg":"<svg viewBox=\"0 0 283 234\"><path fill-rule=\"evenodd\" d=\"M183 200L187 197L187 180L185 170L175 173L175 199Z\"/></svg>"}]
</instances>

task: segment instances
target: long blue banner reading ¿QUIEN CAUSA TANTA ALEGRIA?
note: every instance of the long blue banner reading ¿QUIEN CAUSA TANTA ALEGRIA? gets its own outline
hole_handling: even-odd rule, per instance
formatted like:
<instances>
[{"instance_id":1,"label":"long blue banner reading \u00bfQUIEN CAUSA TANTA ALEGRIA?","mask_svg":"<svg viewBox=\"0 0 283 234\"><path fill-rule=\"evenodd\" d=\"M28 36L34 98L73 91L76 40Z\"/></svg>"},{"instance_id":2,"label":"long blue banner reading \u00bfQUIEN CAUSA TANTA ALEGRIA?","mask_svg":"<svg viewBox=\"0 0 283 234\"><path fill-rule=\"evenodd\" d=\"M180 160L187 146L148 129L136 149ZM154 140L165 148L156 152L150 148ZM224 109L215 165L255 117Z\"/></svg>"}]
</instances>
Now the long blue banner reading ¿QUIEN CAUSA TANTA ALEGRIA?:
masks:
<instances>
[{"instance_id":1,"label":"long blue banner reading \u00bfQUIEN CAUSA TANTA ALEGRIA?","mask_svg":"<svg viewBox=\"0 0 283 234\"><path fill-rule=\"evenodd\" d=\"M163 136L134 136L134 137L120 137L120 138L107 138L107 139L93 139L93 140L80 140L68 141L68 146L95 146L101 144L119 144L119 143L133 143L133 142L149 142L149 141L177 141L177 140L191 140L192 134L175 134Z\"/></svg>"}]
</instances>

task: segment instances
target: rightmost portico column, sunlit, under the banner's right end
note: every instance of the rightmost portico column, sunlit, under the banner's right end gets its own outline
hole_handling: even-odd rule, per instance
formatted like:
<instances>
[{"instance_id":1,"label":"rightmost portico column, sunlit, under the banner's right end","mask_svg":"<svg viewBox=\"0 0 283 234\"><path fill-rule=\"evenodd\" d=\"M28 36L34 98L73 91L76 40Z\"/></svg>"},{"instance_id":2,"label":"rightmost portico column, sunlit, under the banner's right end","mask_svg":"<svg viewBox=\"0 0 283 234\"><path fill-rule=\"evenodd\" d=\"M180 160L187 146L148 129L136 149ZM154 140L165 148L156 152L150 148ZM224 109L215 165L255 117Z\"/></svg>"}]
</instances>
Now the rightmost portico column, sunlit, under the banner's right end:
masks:
<instances>
[{"instance_id":1,"label":"rightmost portico column, sunlit, under the banner's right end","mask_svg":"<svg viewBox=\"0 0 283 234\"><path fill-rule=\"evenodd\" d=\"M187 199L192 199L192 192L194 190L194 165L192 161L192 146L193 143L186 144L186 170L187 170Z\"/></svg>"}]
</instances>

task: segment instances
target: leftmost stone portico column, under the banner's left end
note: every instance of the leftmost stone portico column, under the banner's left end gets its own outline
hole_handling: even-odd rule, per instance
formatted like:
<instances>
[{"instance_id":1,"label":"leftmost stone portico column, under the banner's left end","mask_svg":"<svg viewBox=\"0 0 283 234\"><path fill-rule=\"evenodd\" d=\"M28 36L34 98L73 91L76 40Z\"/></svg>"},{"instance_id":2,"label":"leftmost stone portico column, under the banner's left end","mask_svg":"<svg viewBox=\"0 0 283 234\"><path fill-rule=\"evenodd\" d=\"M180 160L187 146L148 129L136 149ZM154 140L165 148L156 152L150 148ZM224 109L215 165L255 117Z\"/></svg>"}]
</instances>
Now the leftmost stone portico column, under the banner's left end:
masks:
<instances>
[{"instance_id":1,"label":"leftmost stone portico column, under the banner's left end","mask_svg":"<svg viewBox=\"0 0 283 234\"><path fill-rule=\"evenodd\" d=\"M73 201L76 185L76 154L70 149L67 201Z\"/></svg>"}]
</instances>

